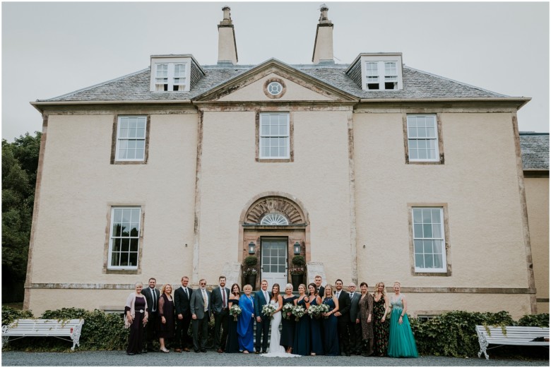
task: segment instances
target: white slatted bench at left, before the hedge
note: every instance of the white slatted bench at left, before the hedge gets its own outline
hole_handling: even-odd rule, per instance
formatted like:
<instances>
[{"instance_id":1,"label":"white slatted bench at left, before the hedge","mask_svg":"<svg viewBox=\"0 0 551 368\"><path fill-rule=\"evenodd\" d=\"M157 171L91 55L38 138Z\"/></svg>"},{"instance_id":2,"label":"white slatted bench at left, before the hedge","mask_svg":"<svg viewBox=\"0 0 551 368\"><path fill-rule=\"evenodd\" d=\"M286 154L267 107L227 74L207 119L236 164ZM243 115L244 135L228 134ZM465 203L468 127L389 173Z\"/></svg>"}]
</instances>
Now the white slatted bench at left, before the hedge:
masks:
<instances>
[{"instance_id":1,"label":"white slatted bench at left, before the hedge","mask_svg":"<svg viewBox=\"0 0 551 368\"><path fill-rule=\"evenodd\" d=\"M65 321L57 319L17 319L11 324L2 326L2 346L12 336L18 336L18 338L12 340L28 336L52 336L61 340L73 341L71 350L75 350L75 345L79 345L81 339L83 324L83 319L67 319ZM69 336L70 339L60 336Z\"/></svg>"}]
</instances>

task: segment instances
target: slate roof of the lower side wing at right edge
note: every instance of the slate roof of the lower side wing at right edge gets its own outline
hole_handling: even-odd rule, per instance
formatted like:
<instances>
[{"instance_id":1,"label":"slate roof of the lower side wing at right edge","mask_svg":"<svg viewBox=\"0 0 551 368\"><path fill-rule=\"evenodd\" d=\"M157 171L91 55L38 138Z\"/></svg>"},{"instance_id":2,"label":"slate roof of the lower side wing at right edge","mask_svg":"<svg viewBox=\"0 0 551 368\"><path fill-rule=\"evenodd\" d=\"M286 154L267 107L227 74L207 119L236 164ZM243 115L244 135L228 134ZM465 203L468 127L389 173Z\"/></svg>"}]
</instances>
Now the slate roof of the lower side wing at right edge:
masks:
<instances>
[{"instance_id":1,"label":"slate roof of the lower side wing at right edge","mask_svg":"<svg viewBox=\"0 0 551 368\"><path fill-rule=\"evenodd\" d=\"M523 170L549 170L549 133L521 131L519 136Z\"/></svg>"}]
</instances>

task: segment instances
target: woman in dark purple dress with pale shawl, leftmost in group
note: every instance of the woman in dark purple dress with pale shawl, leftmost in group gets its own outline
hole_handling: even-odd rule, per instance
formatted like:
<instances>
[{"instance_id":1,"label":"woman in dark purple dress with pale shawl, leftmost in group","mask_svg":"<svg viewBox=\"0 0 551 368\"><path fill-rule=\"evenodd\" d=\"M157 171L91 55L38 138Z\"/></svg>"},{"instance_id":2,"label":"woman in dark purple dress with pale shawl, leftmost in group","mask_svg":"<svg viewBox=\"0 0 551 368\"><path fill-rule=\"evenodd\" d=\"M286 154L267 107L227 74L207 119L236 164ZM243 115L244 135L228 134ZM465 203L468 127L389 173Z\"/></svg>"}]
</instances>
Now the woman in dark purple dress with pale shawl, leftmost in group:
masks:
<instances>
[{"instance_id":1,"label":"woman in dark purple dress with pale shawl, leftmost in group","mask_svg":"<svg viewBox=\"0 0 551 368\"><path fill-rule=\"evenodd\" d=\"M128 355L141 353L143 328L148 321L148 302L146 297L141 294L142 288L142 283L136 283L134 292L126 299L124 306L124 327L130 328L128 348L126 348Z\"/></svg>"}]
</instances>

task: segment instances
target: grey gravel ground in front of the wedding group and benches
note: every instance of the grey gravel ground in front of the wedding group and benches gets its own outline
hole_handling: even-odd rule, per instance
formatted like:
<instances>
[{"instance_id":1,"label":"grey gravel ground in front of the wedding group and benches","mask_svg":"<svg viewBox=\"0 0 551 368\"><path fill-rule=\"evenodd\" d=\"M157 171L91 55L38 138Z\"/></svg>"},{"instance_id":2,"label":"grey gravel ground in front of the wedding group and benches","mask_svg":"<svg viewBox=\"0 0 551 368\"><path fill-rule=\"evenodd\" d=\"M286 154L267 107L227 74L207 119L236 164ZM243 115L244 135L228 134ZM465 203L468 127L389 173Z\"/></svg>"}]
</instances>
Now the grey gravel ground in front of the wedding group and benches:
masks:
<instances>
[{"instance_id":1,"label":"grey gravel ground in front of the wedding group and benches","mask_svg":"<svg viewBox=\"0 0 551 368\"><path fill-rule=\"evenodd\" d=\"M146 355L126 355L124 351L99 352L20 352L8 351L1 354L2 366L191 366L191 367L220 367L223 365L239 366L374 366L374 367L508 367L534 366L548 367L549 360L485 360L482 358L450 358L450 357L419 357L417 359L397 359L390 357L292 357L267 358L255 354L218 354L208 351L195 352L149 352Z\"/></svg>"}]
</instances>

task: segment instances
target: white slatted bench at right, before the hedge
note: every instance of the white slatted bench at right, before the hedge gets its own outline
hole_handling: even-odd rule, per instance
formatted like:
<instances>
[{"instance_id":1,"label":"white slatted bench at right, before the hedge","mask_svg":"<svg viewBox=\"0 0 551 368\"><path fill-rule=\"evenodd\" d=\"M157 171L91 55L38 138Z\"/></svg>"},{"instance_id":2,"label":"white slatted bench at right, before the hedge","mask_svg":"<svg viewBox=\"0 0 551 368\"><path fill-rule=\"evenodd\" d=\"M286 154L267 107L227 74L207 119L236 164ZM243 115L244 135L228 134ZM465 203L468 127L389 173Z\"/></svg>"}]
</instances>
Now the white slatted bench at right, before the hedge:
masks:
<instances>
[{"instance_id":1,"label":"white slatted bench at right, before the hedge","mask_svg":"<svg viewBox=\"0 0 551 368\"><path fill-rule=\"evenodd\" d=\"M502 326L488 326L488 330L490 330L488 333L485 326L476 326L478 343L480 343L478 357L483 352L486 359L489 359L486 350L503 345L549 346L549 327L506 326L504 328L506 333ZM534 341L536 338L541 338L541 341ZM547 341L543 339L547 339ZM490 344L498 346L488 348Z\"/></svg>"}]
</instances>

